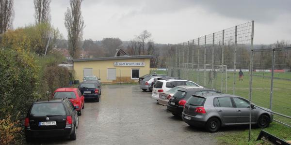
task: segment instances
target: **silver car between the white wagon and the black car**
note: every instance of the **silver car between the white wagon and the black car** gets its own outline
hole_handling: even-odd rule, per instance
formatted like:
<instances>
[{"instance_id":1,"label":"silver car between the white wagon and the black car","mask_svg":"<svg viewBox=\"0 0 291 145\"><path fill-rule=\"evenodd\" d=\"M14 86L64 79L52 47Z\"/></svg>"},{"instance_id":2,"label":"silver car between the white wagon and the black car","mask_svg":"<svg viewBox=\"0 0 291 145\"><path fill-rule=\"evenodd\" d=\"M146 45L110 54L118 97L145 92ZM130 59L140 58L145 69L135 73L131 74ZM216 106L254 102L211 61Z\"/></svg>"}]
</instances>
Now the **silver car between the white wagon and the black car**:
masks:
<instances>
[{"instance_id":1,"label":"silver car between the white wagon and the black car","mask_svg":"<svg viewBox=\"0 0 291 145\"><path fill-rule=\"evenodd\" d=\"M203 88L203 87L197 87L197 86L177 86L177 87L173 87L173 88L171 88L170 90L168 90L166 92L161 92L160 95L159 95L158 102L161 105L168 105L169 99L173 97L173 95L178 91L178 89L190 89L190 88Z\"/></svg>"}]
</instances>

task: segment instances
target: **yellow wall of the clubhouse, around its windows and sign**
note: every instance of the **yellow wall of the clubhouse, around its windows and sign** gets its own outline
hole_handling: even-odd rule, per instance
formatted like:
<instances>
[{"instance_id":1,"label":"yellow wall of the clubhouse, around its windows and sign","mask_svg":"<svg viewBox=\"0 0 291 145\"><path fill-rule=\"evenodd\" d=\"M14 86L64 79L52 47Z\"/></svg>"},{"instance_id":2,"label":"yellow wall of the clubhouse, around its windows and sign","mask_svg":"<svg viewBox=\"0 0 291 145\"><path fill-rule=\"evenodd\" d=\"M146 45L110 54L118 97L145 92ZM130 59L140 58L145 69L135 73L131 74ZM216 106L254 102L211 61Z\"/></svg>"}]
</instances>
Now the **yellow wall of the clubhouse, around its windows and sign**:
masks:
<instances>
[{"instance_id":1,"label":"yellow wall of the clubhouse, around its windows and sign","mask_svg":"<svg viewBox=\"0 0 291 145\"><path fill-rule=\"evenodd\" d=\"M77 61L74 62L73 66L74 77L81 82L83 80L83 69L92 68L93 75L99 77L102 83L138 82L138 80L131 79L131 69L139 69L139 76L149 74L149 61L150 58ZM114 62L145 62L145 66L114 66ZM116 80L107 80L108 68L116 69Z\"/></svg>"}]
</instances>

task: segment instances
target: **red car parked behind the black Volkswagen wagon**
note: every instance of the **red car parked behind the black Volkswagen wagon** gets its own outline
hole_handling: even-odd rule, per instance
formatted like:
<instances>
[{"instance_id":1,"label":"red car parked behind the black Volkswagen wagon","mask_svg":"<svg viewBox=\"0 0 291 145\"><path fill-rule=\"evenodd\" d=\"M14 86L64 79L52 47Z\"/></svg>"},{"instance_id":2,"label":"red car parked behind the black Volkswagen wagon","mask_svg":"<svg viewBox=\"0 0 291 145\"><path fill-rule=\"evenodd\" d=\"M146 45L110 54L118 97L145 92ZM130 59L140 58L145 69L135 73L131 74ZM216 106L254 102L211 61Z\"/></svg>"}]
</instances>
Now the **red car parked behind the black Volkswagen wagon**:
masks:
<instances>
[{"instance_id":1,"label":"red car parked behind the black Volkswagen wagon","mask_svg":"<svg viewBox=\"0 0 291 145\"><path fill-rule=\"evenodd\" d=\"M85 107L84 96L78 88L58 88L54 91L52 98L68 98L78 111L78 115L82 115L82 109Z\"/></svg>"}]
</instances>

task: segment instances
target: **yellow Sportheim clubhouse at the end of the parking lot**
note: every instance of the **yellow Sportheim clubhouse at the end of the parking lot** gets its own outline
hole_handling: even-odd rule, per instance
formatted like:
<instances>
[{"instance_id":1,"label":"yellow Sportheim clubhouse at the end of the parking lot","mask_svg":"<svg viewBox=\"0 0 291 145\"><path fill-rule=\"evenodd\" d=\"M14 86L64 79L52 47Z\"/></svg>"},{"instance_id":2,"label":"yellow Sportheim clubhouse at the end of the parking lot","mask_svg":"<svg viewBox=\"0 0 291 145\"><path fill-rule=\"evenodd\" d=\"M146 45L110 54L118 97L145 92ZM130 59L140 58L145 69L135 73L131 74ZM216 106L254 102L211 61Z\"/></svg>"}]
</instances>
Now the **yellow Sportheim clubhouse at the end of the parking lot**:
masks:
<instances>
[{"instance_id":1,"label":"yellow Sportheim clubhouse at the end of the parking lot","mask_svg":"<svg viewBox=\"0 0 291 145\"><path fill-rule=\"evenodd\" d=\"M150 58L155 56L116 56L109 58L73 59L75 80L95 75L102 83L138 82L140 76L149 74Z\"/></svg>"}]
</instances>

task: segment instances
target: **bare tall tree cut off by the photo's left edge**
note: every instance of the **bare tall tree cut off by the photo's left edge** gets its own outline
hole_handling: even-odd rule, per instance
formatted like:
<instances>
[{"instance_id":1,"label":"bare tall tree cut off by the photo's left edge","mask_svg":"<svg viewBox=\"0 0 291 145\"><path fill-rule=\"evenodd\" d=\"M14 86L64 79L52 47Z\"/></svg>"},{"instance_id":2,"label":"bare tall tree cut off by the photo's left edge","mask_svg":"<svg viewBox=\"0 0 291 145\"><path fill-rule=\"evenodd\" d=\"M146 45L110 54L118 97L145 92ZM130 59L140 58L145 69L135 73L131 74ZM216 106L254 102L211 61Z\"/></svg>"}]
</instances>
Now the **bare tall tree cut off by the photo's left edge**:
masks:
<instances>
[{"instance_id":1,"label":"bare tall tree cut off by the photo's left edge","mask_svg":"<svg viewBox=\"0 0 291 145\"><path fill-rule=\"evenodd\" d=\"M13 0L0 0L0 34L12 28L13 18Z\"/></svg>"}]
</instances>

